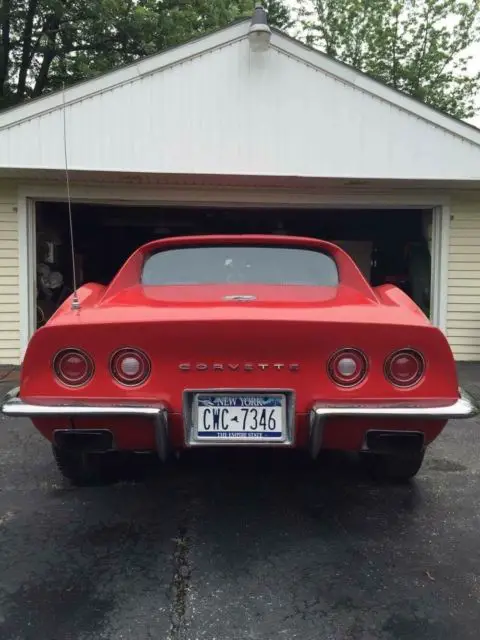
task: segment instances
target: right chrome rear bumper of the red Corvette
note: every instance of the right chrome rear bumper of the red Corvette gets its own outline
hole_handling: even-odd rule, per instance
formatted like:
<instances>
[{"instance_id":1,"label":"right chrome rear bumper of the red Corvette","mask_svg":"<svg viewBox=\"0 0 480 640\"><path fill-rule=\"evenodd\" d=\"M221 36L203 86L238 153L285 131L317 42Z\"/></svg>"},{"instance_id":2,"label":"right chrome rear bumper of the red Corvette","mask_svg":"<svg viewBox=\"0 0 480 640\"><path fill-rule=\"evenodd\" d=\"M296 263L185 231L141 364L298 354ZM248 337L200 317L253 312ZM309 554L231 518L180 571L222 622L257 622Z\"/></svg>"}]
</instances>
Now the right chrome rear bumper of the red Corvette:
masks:
<instances>
[{"instance_id":1,"label":"right chrome rear bumper of the red Corvette","mask_svg":"<svg viewBox=\"0 0 480 640\"><path fill-rule=\"evenodd\" d=\"M464 389L460 397L449 405L425 405L415 403L392 404L322 404L317 403L310 412L309 449L316 458L322 447L323 430L327 418L401 418L405 420L460 420L473 418L480 407Z\"/></svg>"}]
</instances>

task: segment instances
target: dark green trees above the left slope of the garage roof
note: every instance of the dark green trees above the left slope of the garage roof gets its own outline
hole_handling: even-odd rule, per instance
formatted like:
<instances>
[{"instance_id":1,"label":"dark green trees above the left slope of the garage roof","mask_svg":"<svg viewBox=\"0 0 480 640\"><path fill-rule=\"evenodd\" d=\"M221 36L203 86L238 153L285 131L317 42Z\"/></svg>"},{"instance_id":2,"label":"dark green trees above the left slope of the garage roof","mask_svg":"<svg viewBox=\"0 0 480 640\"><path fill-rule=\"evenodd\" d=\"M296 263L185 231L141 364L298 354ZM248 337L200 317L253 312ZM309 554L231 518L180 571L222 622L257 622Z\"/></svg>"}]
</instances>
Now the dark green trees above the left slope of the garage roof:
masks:
<instances>
[{"instance_id":1,"label":"dark green trees above the left slope of the garage roof","mask_svg":"<svg viewBox=\"0 0 480 640\"><path fill-rule=\"evenodd\" d=\"M290 24L283 0L265 3ZM0 109L252 14L253 0L0 0Z\"/></svg>"}]
</instances>

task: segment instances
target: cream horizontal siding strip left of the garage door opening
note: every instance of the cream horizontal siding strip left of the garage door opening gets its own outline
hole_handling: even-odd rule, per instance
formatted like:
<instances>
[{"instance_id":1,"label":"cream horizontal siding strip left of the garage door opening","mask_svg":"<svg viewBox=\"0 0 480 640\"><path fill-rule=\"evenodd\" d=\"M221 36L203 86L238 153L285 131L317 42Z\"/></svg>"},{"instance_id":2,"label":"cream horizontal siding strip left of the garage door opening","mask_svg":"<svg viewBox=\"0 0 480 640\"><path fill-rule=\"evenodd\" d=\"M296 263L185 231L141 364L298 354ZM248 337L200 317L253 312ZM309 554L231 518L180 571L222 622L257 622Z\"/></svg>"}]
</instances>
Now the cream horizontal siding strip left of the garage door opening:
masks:
<instances>
[{"instance_id":1,"label":"cream horizontal siding strip left of the garage door opening","mask_svg":"<svg viewBox=\"0 0 480 640\"><path fill-rule=\"evenodd\" d=\"M0 365L20 360L17 194L0 181Z\"/></svg>"}]
</instances>

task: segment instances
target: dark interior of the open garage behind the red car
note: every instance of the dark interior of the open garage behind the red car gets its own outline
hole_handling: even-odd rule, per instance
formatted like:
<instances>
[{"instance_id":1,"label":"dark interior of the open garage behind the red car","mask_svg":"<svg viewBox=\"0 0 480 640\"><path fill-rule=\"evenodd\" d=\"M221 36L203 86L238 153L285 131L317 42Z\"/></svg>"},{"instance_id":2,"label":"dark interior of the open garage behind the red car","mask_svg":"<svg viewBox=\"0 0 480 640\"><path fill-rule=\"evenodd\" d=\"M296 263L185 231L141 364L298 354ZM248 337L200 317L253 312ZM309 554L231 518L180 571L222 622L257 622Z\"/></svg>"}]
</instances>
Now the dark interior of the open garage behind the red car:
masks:
<instances>
[{"instance_id":1,"label":"dark interior of the open garage behind the red car","mask_svg":"<svg viewBox=\"0 0 480 640\"><path fill-rule=\"evenodd\" d=\"M72 204L77 284L108 284L139 245L173 235L279 233L340 244L377 286L393 283L430 316L431 210ZM72 293L68 206L36 202L37 327Z\"/></svg>"}]
</instances>

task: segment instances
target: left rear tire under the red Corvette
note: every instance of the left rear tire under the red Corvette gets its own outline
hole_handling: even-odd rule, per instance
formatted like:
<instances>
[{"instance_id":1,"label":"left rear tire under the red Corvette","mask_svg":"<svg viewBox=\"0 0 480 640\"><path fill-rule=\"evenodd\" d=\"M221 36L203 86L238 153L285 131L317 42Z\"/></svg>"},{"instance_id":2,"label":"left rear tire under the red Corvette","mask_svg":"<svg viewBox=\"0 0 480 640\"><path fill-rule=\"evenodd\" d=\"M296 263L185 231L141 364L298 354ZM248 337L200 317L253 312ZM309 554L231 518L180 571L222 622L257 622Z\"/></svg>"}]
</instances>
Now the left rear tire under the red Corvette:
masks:
<instances>
[{"instance_id":1,"label":"left rear tire under the red Corvette","mask_svg":"<svg viewBox=\"0 0 480 640\"><path fill-rule=\"evenodd\" d=\"M83 453L53 445L53 457L64 478L77 486L107 484L109 459L105 453Z\"/></svg>"}]
</instances>

